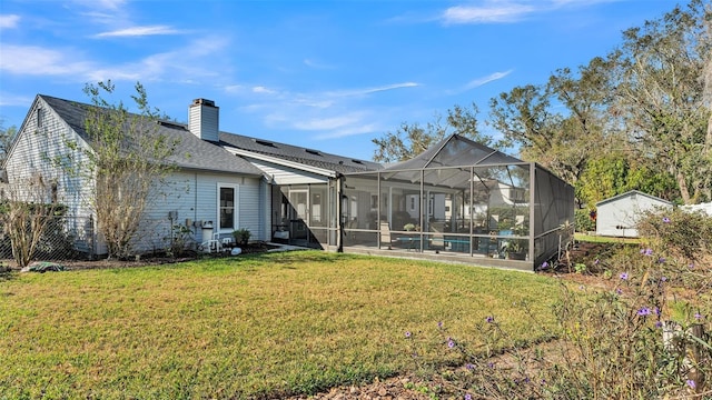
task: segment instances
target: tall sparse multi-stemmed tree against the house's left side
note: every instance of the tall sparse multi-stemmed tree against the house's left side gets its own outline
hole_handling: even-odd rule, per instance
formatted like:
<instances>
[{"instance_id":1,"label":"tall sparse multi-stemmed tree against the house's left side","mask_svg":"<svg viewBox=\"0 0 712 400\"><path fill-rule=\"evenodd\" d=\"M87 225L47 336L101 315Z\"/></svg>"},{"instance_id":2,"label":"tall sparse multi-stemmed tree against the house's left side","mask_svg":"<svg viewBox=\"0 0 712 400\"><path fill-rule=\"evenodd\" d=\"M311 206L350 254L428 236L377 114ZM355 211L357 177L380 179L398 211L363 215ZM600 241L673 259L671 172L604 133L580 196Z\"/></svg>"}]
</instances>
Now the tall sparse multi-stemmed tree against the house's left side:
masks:
<instances>
[{"instance_id":1,"label":"tall sparse multi-stemmed tree against the house's left side","mask_svg":"<svg viewBox=\"0 0 712 400\"><path fill-rule=\"evenodd\" d=\"M87 161L62 162L71 173L93 182L89 202L110 258L132 254L144 211L160 194L164 178L175 170L170 157L178 143L160 133L158 110L148 106L144 87L136 83L135 89L131 98L139 113L102 97L113 92L111 81L85 87L92 104L85 120L90 147L67 144L81 151Z\"/></svg>"}]
</instances>

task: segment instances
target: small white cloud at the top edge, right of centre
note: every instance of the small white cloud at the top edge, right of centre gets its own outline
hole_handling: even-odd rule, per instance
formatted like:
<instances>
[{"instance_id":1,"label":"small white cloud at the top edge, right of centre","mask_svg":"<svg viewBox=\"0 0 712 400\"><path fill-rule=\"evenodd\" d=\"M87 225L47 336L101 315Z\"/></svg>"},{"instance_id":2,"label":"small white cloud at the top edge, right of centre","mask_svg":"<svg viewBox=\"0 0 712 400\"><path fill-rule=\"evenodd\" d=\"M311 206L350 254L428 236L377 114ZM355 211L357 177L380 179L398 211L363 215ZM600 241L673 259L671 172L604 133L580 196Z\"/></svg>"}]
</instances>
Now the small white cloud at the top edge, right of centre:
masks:
<instances>
[{"instance_id":1,"label":"small white cloud at the top edge, right of centre","mask_svg":"<svg viewBox=\"0 0 712 400\"><path fill-rule=\"evenodd\" d=\"M534 7L525 4L456 6L446 9L441 19L446 24L515 22L533 11Z\"/></svg>"}]
</instances>

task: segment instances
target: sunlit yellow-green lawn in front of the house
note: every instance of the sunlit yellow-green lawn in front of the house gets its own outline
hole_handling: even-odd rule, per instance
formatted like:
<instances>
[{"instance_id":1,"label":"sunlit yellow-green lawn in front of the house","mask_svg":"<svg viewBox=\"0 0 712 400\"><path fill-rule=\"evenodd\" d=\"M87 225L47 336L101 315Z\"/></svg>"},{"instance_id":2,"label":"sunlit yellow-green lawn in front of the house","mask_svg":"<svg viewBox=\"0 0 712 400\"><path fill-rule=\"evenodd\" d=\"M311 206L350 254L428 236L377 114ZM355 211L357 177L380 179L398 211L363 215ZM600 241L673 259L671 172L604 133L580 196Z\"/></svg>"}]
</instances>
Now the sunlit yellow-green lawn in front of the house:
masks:
<instances>
[{"instance_id":1,"label":"sunlit yellow-green lawn in front of the house","mask_svg":"<svg viewBox=\"0 0 712 400\"><path fill-rule=\"evenodd\" d=\"M261 398L414 368L406 331L537 340L557 283L318 251L0 280L0 399ZM435 364L454 361L442 354Z\"/></svg>"}]
</instances>

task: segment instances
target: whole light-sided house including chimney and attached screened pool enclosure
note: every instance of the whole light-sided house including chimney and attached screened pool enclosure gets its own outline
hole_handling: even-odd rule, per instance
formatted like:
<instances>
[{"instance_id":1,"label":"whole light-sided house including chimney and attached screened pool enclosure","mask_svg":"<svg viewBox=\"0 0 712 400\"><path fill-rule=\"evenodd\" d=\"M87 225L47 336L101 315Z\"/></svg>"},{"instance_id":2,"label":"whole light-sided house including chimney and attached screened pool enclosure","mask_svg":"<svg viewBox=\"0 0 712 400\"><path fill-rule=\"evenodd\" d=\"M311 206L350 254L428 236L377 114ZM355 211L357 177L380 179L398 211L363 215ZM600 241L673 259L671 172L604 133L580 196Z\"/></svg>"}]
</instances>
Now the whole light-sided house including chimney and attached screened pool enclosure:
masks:
<instances>
[{"instance_id":1,"label":"whole light-sided house including chimney and attached screened pool enclosure","mask_svg":"<svg viewBox=\"0 0 712 400\"><path fill-rule=\"evenodd\" d=\"M51 181L77 248L101 254L100 238L82 231L93 221L91 179L51 162L68 153L78 161L85 152L77 147L91 149L90 107L38 96L3 167L10 184L33 176ZM158 121L156 130L178 143L169 159L177 169L144 214L138 251L165 249L175 227L191 230L198 243L247 228L253 240L531 271L571 239L561 228L573 221L571 186L458 134L386 168L220 131L219 108L207 99L188 106L188 123ZM516 260L503 250L513 243Z\"/></svg>"}]
</instances>

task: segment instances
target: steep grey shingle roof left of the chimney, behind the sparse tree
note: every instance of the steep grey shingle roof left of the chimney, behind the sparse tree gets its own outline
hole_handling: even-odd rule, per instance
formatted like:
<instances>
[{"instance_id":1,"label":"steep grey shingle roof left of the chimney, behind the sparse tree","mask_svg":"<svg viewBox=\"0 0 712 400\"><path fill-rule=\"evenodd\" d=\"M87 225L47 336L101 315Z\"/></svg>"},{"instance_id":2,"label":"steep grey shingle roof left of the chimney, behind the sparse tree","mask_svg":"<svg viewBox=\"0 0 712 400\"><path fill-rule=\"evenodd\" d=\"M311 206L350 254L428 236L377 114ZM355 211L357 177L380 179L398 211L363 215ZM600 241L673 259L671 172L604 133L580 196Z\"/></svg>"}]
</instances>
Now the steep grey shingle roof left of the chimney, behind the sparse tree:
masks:
<instances>
[{"instance_id":1,"label":"steep grey shingle roof left of the chimney, behind the sparse tree","mask_svg":"<svg viewBox=\"0 0 712 400\"><path fill-rule=\"evenodd\" d=\"M58 99L51 96L39 96L51 107L82 139L90 143L85 130L87 110L93 106ZM154 123L154 122L151 122ZM235 172L249 176L263 176L263 172L247 160L236 157L220 146L200 140L188 131L186 124L162 122L149 132L164 134L168 142L177 142L176 151L169 161L177 167L218 172Z\"/></svg>"}]
</instances>

